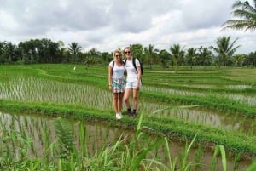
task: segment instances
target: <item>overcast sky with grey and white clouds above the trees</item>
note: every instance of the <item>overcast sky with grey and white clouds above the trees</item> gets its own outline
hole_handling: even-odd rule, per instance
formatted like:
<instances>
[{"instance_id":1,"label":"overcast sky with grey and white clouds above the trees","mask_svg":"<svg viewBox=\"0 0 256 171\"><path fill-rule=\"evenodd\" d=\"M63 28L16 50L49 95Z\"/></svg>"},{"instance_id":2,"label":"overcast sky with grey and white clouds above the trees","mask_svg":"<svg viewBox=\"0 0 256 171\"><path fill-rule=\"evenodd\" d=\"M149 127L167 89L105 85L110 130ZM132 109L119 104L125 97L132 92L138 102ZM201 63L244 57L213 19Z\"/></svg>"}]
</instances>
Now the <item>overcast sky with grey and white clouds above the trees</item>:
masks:
<instances>
[{"instance_id":1,"label":"overcast sky with grey and white clouds above the trees","mask_svg":"<svg viewBox=\"0 0 256 171\"><path fill-rule=\"evenodd\" d=\"M256 31L222 30L236 0L0 0L0 42L35 38L113 52L133 43L169 51L238 38L238 53L256 51ZM253 4L253 0L249 0Z\"/></svg>"}]
</instances>

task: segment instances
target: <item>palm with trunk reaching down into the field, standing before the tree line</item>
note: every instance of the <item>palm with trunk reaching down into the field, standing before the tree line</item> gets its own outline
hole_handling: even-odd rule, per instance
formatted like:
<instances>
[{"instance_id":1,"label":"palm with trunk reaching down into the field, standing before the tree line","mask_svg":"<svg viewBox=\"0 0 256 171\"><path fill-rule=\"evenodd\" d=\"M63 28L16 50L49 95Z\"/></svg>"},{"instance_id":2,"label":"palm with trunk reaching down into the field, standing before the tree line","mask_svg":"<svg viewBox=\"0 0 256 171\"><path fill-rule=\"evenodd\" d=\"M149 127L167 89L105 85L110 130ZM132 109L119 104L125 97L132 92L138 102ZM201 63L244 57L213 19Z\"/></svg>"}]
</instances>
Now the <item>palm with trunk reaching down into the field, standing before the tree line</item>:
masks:
<instances>
[{"instance_id":1,"label":"palm with trunk reaching down into the field, standing before the tree line","mask_svg":"<svg viewBox=\"0 0 256 171\"><path fill-rule=\"evenodd\" d=\"M179 44L173 44L173 46L170 48L171 56L174 59L174 64L176 66L176 71L175 71L176 73L177 73L179 62L183 60L183 57L185 54L185 51L183 50L183 48L181 48Z\"/></svg>"}]
</instances>

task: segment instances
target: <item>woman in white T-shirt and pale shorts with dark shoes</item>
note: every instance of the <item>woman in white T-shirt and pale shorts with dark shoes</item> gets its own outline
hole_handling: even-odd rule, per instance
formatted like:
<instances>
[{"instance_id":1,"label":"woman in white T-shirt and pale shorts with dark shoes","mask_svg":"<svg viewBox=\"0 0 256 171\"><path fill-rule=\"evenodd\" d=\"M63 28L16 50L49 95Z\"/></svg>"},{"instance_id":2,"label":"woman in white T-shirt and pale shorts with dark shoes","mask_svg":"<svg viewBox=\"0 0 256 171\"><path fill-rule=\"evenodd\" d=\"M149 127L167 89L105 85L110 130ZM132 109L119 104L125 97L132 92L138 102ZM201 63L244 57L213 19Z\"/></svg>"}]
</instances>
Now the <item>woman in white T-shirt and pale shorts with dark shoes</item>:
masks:
<instances>
[{"instance_id":1,"label":"woman in white T-shirt and pale shorts with dark shoes","mask_svg":"<svg viewBox=\"0 0 256 171\"><path fill-rule=\"evenodd\" d=\"M138 94L142 86L142 65L137 58L134 58L131 54L131 47L125 47L125 71L126 84L125 84L125 94L124 101L127 107L127 114L129 116L135 117L137 115L137 105L138 105ZM130 104L130 95L132 92L132 111Z\"/></svg>"}]
</instances>

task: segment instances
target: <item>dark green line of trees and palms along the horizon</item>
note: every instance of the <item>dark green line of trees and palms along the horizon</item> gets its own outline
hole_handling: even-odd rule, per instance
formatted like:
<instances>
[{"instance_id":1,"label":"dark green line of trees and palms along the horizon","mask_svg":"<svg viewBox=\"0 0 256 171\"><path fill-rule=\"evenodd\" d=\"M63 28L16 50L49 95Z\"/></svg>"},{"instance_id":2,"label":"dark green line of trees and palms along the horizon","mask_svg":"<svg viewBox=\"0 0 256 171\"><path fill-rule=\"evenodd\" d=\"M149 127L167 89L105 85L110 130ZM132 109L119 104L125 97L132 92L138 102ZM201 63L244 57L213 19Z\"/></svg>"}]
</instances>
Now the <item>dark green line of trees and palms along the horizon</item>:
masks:
<instances>
[{"instance_id":1,"label":"dark green line of trees and palms along the horizon","mask_svg":"<svg viewBox=\"0 0 256 171\"><path fill-rule=\"evenodd\" d=\"M237 39L236 39L237 40ZM216 46L186 48L180 44L173 44L168 50L154 48L149 44L131 44L135 57L144 65L168 66L256 66L256 51L249 54L235 54L240 45L230 37L219 37ZM61 41L50 39L31 39L15 45L11 42L0 42L0 64L40 64L40 63L68 63L99 65L108 64L113 54L100 52L91 48L82 51L79 43L70 43L64 47Z\"/></svg>"}]
</instances>

